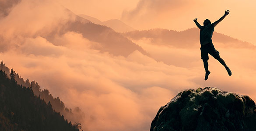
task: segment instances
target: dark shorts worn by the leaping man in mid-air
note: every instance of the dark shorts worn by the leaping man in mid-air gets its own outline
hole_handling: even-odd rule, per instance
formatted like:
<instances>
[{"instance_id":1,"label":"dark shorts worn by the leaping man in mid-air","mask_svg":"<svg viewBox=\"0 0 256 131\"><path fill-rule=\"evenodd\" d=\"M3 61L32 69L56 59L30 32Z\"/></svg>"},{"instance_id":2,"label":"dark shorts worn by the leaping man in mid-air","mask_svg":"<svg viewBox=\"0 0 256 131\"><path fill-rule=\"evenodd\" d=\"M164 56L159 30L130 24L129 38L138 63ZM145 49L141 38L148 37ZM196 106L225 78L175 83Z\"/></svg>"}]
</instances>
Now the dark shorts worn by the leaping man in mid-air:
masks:
<instances>
[{"instance_id":1,"label":"dark shorts worn by the leaping man in mid-air","mask_svg":"<svg viewBox=\"0 0 256 131\"><path fill-rule=\"evenodd\" d=\"M208 43L206 45L202 45L200 50L201 50L201 59L203 59L203 60L208 60L209 59L208 54L213 56L215 59L220 57L220 52L218 52L214 48L214 45L212 43Z\"/></svg>"}]
</instances>

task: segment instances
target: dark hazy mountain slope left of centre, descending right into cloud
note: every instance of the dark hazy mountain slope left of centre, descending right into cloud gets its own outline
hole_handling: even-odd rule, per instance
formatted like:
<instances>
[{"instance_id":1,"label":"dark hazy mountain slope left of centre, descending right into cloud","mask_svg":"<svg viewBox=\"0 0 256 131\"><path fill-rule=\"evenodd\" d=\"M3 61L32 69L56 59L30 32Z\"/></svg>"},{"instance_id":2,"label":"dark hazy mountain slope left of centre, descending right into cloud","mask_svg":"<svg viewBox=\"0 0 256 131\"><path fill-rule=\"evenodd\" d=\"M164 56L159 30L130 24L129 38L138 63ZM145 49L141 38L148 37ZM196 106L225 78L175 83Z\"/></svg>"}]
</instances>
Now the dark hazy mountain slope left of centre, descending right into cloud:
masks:
<instances>
[{"instance_id":1,"label":"dark hazy mountain slope left of centre, descending right into cloud","mask_svg":"<svg viewBox=\"0 0 256 131\"><path fill-rule=\"evenodd\" d=\"M108 27L93 23L81 23L79 21L69 23L67 27L66 31L80 32L83 34L84 38L101 43L102 48L97 49L103 52L127 56L135 50L138 50L146 54L143 48Z\"/></svg>"}]
</instances>

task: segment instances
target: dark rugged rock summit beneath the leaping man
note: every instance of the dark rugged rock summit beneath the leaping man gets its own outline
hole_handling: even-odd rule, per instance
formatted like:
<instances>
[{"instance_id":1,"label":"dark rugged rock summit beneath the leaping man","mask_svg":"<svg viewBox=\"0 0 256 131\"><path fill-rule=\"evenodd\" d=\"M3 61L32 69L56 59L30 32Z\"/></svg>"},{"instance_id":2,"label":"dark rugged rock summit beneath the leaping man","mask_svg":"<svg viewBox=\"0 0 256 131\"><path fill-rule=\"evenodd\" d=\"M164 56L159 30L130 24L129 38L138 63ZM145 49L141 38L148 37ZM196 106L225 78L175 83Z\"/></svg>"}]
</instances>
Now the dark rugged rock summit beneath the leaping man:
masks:
<instances>
[{"instance_id":1,"label":"dark rugged rock summit beneath the leaping man","mask_svg":"<svg viewBox=\"0 0 256 131\"><path fill-rule=\"evenodd\" d=\"M214 87L184 90L158 110L150 131L256 131L256 105Z\"/></svg>"}]
</instances>

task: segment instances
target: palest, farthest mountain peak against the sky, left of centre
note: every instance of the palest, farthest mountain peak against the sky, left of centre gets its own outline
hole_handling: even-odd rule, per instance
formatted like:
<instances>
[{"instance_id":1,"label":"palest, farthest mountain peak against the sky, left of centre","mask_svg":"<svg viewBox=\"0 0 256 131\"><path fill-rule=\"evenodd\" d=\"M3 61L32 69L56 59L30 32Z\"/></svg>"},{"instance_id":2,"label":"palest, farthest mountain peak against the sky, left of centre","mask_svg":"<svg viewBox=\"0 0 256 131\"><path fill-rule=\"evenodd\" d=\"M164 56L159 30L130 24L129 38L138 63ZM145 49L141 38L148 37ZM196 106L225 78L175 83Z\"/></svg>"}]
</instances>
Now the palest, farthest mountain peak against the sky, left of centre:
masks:
<instances>
[{"instance_id":1,"label":"palest, farthest mountain peak against the sky, left of centre","mask_svg":"<svg viewBox=\"0 0 256 131\"><path fill-rule=\"evenodd\" d=\"M112 28L113 30L115 30L116 32L128 32L128 31L134 31L135 29L130 27L129 25L123 23L122 21L118 20L118 19L112 19L109 21L100 21L94 17L90 17L88 15L85 14L80 14L79 16L88 19L89 21L91 21L92 23L95 24L101 24L101 25L105 25L108 26L110 28Z\"/></svg>"}]
</instances>

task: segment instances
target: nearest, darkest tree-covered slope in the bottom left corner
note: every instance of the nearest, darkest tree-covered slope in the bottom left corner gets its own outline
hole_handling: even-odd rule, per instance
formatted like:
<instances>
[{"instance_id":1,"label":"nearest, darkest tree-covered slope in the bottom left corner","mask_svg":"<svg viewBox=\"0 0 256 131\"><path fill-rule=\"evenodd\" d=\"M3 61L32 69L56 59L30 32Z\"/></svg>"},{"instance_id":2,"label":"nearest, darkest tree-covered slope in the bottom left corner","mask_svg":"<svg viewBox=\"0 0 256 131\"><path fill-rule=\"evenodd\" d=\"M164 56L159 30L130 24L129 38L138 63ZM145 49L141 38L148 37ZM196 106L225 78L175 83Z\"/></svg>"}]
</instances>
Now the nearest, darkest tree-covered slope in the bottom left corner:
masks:
<instances>
[{"instance_id":1,"label":"nearest, darkest tree-covered slope in the bottom left corner","mask_svg":"<svg viewBox=\"0 0 256 131\"><path fill-rule=\"evenodd\" d=\"M0 70L0 131L79 131L31 88Z\"/></svg>"}]
</instances>

